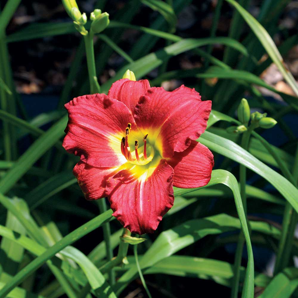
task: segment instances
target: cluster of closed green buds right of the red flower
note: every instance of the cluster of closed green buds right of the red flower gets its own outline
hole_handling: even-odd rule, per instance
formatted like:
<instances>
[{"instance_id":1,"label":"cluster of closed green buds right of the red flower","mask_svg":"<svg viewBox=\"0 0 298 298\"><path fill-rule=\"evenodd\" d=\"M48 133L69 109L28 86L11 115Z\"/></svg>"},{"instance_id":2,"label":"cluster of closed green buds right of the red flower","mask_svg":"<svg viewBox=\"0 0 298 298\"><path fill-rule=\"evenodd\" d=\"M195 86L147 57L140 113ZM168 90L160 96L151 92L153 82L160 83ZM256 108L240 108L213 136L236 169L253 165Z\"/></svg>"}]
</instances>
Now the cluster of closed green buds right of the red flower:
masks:
<instances>
[{"instance_id":1,"label":"cluster of closed green buds right of the red flower","mask_svg":"<svg viewBox=\"0 0 298 298\"><path fill-rule=\"evenodd\" d=\"M271 117L267 117L267 113L254 112L250 114L250 108L247 100L243 98L237 109L238 119L242 123L239 126L230 126L227 128L227 132L232 134L241 134L247 131L247 128L254 129L257 127L261 128L272 128L277 121ZM249 120L251 124L249 126Z\"/></svg>"}]
</instances>

